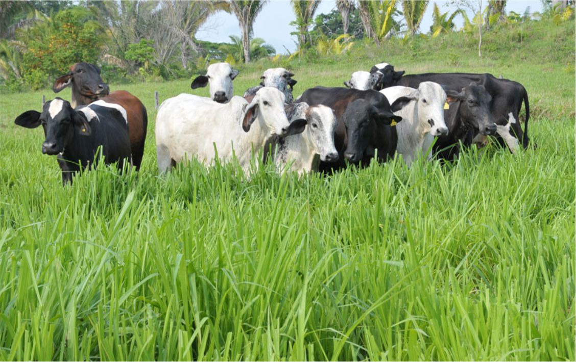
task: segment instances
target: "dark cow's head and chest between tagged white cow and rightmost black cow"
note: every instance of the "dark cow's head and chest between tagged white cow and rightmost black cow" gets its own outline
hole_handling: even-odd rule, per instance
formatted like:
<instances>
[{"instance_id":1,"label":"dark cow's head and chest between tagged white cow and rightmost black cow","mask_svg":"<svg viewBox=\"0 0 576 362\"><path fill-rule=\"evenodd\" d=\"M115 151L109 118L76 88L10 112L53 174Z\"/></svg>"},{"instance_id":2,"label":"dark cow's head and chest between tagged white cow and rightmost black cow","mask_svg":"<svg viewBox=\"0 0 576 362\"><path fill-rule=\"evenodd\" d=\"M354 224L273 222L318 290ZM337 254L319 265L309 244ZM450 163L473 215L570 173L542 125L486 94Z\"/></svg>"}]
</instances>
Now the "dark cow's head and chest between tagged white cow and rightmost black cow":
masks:
<instances>
[{"instance_id":1,"label":"dark cow's head and chest between tagged white cow and rightmost black cow","mask_svg":"<svg viewBox=\"0 0 576 362\"><path fill-rule=\"evenodd\" d=\"M441 159L454 159L460 148L470 146L475 134L493 135L497 127L490 113L492 96L482 85L474 82L458 92L445 89L448 109L444 110L444 121L448 126L448 135L439 136L433 151Z\"/></svg>"}]
</instances>

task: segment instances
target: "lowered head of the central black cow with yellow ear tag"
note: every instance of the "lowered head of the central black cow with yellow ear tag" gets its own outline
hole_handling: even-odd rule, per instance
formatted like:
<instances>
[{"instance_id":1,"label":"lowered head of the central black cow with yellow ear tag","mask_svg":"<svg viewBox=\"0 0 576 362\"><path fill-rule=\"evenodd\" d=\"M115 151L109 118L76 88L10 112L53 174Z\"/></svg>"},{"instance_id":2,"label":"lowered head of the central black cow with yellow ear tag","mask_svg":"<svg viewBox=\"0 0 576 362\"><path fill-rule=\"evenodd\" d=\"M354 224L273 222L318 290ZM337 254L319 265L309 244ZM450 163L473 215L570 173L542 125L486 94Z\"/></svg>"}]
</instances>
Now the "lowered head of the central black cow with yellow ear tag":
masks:
<instances>
[{"instance_id":1,"label":"lowered head of the central black cow with yellow ear tag","mask_svg":"<svg viewBox=\"0 0 576 362\"><path fill-rule=\"evenodd\" d=\"M366 100L358 99L348 104L343 120L348 137L344 157L348 161L359 162L366 151L373 148L377 127L390 125L392 121L400 122L402 117L378 109Z\"/></svg>"}]
</instances>

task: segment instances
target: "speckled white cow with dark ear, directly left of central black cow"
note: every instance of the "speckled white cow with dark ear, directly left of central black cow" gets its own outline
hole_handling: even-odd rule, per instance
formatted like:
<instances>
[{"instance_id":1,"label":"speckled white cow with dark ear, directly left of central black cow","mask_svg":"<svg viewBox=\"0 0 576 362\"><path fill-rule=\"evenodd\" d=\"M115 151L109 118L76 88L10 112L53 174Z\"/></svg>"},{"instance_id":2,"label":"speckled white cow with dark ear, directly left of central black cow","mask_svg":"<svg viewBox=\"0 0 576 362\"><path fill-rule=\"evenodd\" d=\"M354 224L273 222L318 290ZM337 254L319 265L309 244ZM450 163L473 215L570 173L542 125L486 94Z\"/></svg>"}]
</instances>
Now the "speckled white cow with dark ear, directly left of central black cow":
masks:
<instances>
[{"instance_id":1,"label":"speckled white cow with dark ear, directly left of central black cow","mask_svg":"<svg viewBox=\"0 0 576 362\"><path fill-rule=\"evenodd\" d=\"M306 119L308 126L301 134L276 139L274 163L282 172L290 170L302 174L317 171L320 161L338 160L338 151L334 146L336 116L325 105L309 106L305 102L287 105L289 118Z\"/></svg>"}]
</instances>

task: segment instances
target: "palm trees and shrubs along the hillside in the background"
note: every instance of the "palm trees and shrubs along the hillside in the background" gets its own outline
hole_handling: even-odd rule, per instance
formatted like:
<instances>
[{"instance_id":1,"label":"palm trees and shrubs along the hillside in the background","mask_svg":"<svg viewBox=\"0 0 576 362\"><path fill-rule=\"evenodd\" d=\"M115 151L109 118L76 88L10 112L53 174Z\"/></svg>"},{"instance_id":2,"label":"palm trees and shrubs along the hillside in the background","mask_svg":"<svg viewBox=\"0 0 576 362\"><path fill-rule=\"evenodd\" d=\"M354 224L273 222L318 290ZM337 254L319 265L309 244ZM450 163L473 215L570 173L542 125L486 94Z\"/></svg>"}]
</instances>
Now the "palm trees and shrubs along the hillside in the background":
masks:
<instances>
[{"instance_id":1,"label":"palm trees and shrubs along the hillside in the background","mask_svg":"<svg viewBox=\"0 0 576 362\"><path fill-rule=\"evenodd\" d=\"M542 19L560 26L574 17L574 3L544 2L543 13L506 12L506 1L454 1L458 9L442 13L434 4L433 25L420 29L427 1L336 1L329 14L316 14L320 1L291 1L291 22L298 49L279 54L265 39L253 39L252 26L266 1L2 1L0 3L0 92L37 90L79 61L96 63L114 82L184 79L203 73L209 64L264 63L284 67L302 60L322 61L339 54L357 54L361 47L380 45L388 51L399 42L449 36L458 31L476 39L506 32L510 26ZM472 18L464 9L470 9ZM238 19L241 37L229 43L195 38L216 12ZM456 29L454 19L464 18ZM490 51L490 49L484 49ZM277 54L278 53L278 54ZM272 58L273 57L273 58Z\"/></svg>"}]
</instances>

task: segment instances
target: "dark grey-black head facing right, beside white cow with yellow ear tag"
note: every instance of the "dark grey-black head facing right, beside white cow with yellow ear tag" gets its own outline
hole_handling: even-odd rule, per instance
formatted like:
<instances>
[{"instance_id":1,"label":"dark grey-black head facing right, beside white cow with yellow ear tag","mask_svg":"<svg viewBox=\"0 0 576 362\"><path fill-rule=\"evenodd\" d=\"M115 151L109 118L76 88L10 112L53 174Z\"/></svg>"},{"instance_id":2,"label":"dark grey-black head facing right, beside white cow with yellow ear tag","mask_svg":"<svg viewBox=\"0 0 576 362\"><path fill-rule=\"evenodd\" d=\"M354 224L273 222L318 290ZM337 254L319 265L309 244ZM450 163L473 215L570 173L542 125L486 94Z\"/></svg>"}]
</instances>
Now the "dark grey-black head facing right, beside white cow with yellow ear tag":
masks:
<instances>
[{"instance_id":1,"label":"dark grey-black head facing right, beside white cow with yellow ear tag","mask_svg":"<svg viewBox=\"0 0 576 362\"><path fill-rule=\"evenodd\" d=\"M493 135L496 132L496 124L490 113L492 97L483 85L472 82L461 92L446 90L446 95L449 104L460 103L460 117L469 127L478 129L483 135Z\"/></svg>"}]
</instances>

